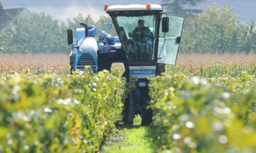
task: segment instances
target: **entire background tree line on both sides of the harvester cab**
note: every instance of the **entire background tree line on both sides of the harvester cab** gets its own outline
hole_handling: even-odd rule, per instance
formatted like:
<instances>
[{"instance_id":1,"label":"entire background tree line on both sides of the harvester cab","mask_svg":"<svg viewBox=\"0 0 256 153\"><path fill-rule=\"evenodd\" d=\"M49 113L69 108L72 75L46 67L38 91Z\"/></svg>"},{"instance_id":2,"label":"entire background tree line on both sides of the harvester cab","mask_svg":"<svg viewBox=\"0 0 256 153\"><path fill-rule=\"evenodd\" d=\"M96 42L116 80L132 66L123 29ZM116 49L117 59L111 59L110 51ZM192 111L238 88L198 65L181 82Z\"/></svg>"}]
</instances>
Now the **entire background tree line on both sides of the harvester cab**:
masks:
<instances>
[{"instance_id":1,"label":"entire background tree line on both sides of the harvester cab","mask_svg":"<svg viewBox=\"0 0 256 153\"><path fill-rule=\"evenodd\" d=\"M185 6L193 6L204 0L163 0L165 11L186 17L182 31L180 52L182 53L255 53L255 22L240 23L239 15L232 15L234 8L216 3L206 10L191 10ZM99 20L92 16L76 17L60 22L44 12L31 13L29 18L15 18L12 24L0 32L0 52L8 53L67 53L67 29L81 27L79 23L95 25L104 29L105 22L111 18L101 15Z\"/></svg>"}]
</instances>

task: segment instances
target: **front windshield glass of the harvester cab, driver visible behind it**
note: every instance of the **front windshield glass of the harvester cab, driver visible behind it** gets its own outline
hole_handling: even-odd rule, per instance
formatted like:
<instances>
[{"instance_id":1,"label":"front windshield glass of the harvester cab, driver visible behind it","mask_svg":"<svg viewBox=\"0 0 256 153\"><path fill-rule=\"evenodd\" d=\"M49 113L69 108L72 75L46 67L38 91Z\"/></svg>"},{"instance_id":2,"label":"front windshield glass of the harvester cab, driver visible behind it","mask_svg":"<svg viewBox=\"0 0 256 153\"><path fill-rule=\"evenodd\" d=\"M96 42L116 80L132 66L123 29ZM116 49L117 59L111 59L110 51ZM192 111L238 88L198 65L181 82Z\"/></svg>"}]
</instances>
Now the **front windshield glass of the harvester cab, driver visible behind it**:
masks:
<instances>
[{"instance_id":1,"label":"front windshield glass of the harvester cab, driver visible behind it","mask_svg":"<svg viewBox=\"0 0 256 153\"><path fill-rule=\"evenodd\" d=\"M116 31L129 61L155 59L156 16L114 17Z\"/></svg>"}]
</instances>

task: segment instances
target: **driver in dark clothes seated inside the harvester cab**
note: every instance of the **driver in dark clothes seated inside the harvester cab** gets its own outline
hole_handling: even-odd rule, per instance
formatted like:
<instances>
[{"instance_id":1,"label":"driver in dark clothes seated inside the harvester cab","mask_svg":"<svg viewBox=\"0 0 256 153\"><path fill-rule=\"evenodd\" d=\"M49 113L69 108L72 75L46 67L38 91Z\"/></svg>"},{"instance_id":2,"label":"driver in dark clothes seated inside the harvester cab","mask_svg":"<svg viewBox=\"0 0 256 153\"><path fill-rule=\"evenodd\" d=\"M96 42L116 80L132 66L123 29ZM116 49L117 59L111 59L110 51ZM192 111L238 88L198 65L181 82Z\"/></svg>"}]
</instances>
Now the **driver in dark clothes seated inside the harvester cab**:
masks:
<instances>
[{"instance_id":1,"label":"driver in dark clothes seated inside the harvester cab","mask_svg":"<svg viewBox=\"0 0 256 153\"><path fill-rule=\"evenodd\" d=\"M145 61L152 59L152 33L145 26L144 20L138 20L138 27L129 33L134 44L134 50L138 52L138 60Z\"/></svg>"}]
</instances>

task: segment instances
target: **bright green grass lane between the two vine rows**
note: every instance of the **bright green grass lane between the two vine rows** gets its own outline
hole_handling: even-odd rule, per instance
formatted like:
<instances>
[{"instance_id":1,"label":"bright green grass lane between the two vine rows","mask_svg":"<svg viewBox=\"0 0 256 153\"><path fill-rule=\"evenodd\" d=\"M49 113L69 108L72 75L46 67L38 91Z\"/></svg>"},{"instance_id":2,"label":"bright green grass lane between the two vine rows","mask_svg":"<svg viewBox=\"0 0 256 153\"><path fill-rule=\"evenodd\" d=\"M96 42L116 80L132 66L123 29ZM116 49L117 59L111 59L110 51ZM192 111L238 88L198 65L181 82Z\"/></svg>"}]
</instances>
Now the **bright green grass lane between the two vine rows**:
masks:
<instances>
[{"instance_id":1,"label":"bright green grass lane between the two vine rows","mask_svg":"<svg viewBox=\"0 0 256 153\"><path fill-rule=\"evenodd\" d=\"M139 126L140 117L136 117L134 125L120 125L111 135L111 138L104 143L101 152L155 152L156 146L150 133L150 126Z\"/></svg>"}]
</instances>

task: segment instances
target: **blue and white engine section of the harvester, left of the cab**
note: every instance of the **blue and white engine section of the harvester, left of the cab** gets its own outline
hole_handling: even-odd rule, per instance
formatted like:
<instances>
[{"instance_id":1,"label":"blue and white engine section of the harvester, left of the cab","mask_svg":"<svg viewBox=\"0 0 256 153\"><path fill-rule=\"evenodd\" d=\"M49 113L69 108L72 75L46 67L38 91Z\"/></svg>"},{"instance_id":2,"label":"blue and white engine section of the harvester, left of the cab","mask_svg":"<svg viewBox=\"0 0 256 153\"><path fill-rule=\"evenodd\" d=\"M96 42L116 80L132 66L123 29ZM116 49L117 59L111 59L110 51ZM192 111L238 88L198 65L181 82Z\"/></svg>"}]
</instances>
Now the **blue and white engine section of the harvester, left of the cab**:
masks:
<instances>
[{"instance_id":1,"label":"blue and white engine section of the harvester, left of the cab","mask_svg":"<svg viewBox=\"0 0 256 153\"><path fill-rule=\"evenodd\" d=\"M127 57L118 36L111 36L112 24L104 24L104 31L98 32L97 27L88 25L88 36L84 28L76 29L76 40L72 45L70 53L70 65L72 70L84 70L84 66L90 66L94 73L108 69L114 62L125 63L125 69L128 69ZM108 29L108 31L107 31ZM95 37L101 35L99 40Z\"/></svg>"}]
</instances>

